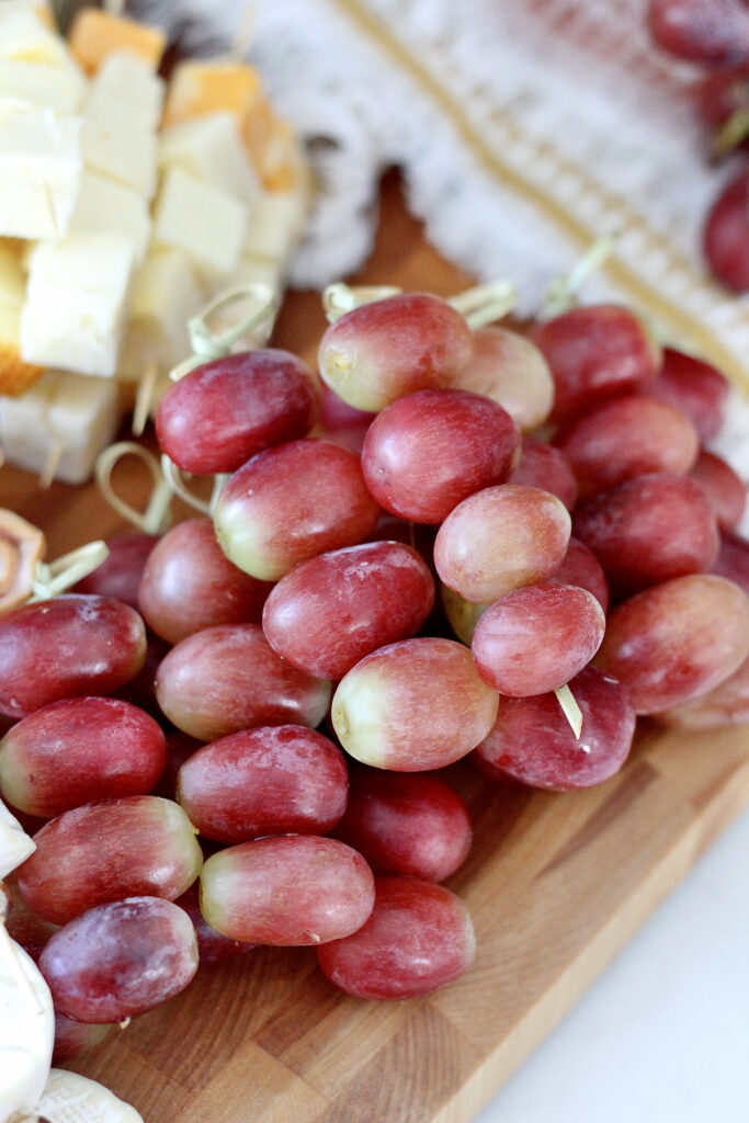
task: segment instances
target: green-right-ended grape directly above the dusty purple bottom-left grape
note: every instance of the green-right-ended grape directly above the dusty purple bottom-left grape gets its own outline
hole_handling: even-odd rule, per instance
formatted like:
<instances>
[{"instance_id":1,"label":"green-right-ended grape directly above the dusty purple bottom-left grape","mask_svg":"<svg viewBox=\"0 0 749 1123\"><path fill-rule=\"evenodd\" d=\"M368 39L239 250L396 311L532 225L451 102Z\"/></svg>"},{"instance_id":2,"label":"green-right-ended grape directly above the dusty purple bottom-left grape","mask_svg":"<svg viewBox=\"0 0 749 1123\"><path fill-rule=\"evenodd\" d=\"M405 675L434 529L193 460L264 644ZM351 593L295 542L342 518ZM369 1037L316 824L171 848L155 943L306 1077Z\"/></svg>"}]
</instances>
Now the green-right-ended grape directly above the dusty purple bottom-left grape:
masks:
<instances>
[{"instance_id":1,"label":"green-right-ended grape directly above the dusty purple bottom-left grape","mask_svg":"<svg viewBox=\"0 0 749 1123\"><path fill-rule=\"evenodd\" d=\"M18 869L18 888L55 924L127 896L173 901L203 862L182 807L155 795L86 803L53 819L34 841L35 852Z\"/></svg>"}]
</instances>

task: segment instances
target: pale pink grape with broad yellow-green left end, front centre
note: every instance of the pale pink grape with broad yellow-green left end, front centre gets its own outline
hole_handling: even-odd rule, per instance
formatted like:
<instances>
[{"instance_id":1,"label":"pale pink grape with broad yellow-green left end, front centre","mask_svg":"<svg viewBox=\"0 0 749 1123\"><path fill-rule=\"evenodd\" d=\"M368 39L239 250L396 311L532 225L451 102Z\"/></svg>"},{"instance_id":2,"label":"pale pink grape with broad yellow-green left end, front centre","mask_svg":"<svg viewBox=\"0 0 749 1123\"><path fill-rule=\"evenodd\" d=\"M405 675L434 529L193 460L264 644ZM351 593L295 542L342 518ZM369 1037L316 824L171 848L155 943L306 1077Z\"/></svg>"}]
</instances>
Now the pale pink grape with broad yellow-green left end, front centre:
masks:
<instances>
[{"instance_id":1,"label":"pale pink grape with broad yellow-green left end, front centre","mask_svg":"<svg viewBox=\"0 0 749 1123\"><path fill-rule=\"evenodd\" d=\"M347 752L396 772L441 768L486 736L496 694L471 651L449 639L401 640L367 655L341 679L331 719Z\"/></svg>"}]
</instances>

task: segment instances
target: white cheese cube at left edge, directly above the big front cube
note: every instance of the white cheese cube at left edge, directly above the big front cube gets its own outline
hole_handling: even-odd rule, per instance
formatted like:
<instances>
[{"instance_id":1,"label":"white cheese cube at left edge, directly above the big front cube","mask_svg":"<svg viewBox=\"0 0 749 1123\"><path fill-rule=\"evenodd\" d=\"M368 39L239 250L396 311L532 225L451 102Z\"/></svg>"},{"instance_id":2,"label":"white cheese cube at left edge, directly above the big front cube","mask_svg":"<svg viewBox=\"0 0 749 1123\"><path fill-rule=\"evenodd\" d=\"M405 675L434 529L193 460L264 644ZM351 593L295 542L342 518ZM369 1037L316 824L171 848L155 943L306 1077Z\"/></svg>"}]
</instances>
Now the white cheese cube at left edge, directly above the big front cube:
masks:
<instances>
[{"instance_id":1,"label":"white cheese cube at left edge, directly above the big front cube","mask_svg":"<svg viewBox=\"0 0 749 1123\"><path fill-rule=\"evenodd\" d=\"M65 234L81 183L81 120L0 104L0 235Z\"/></svg>"}]
</instances>

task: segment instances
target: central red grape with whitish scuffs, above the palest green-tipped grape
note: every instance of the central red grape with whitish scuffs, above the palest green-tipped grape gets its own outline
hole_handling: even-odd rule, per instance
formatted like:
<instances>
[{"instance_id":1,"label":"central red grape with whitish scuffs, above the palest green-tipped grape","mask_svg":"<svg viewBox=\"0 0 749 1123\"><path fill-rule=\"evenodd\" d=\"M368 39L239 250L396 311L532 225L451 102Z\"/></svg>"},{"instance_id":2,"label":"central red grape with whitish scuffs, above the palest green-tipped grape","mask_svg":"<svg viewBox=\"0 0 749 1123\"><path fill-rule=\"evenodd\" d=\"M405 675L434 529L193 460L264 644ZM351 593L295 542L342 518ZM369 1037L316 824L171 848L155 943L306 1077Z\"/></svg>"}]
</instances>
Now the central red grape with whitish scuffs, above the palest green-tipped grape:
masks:
<instances>
[{"instance_id":1,"label":"central red grape with whitish scuffs, above the palest green-tipped grape","mask_svg":"<svg viewBox=\"0 0 749 1123\"><path fill-rule=\"evenodd\" d=\"M366 542L300 563L263 612L268 643L295 667L342 678L365 655L413 636L435 602L435 582L414 549Z\"/></svg>"}]
</instances>

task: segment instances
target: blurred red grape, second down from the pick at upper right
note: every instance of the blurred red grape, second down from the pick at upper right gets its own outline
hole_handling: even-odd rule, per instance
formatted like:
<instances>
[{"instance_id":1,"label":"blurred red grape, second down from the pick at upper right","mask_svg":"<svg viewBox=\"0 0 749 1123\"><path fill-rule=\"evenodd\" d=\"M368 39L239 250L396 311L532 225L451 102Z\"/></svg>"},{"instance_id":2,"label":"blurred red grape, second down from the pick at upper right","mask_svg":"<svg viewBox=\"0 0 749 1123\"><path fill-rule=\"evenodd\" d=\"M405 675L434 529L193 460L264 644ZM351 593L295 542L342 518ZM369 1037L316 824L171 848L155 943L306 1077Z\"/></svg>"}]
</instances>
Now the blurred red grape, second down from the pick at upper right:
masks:
<instances>
[{"instance_id":1,"label":"blurred red grape, second down from the pick at upper right","mask_svg":"<svg viewBox=\"0 0 749 1123\"><path fill-rule=\"evenodd\" d=\"M636 394L596 407L555 442L572 462L581 500L651 472L683 475L700 450L697 430L685 413Z\"/></svg>"}]
</instances>

